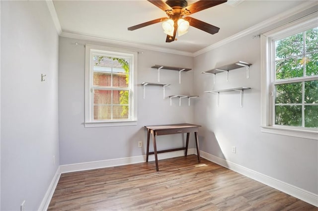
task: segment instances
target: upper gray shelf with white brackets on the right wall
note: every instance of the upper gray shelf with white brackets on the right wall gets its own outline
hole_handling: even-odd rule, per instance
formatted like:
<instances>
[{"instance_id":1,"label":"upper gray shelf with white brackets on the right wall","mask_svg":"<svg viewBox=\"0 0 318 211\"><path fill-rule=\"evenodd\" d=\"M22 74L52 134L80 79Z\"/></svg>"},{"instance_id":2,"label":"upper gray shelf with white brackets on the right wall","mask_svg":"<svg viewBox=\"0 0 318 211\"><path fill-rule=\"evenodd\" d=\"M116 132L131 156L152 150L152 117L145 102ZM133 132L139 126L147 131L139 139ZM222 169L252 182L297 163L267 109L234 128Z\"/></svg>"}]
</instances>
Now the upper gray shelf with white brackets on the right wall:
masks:
<instances>
[{"instance_id":1,"label":"upper gray shelf with white brackets on the right wall","mask_svg":"<svg viewBox=\"0 0 318 211\"><path fill-rule=\"evenodd\" d=\"M250 65L252 65L252 64L244 62L244 61L238 61L238 62L235 62L233 64L224 65L222 67L214 68L212 70L208 70L208 71L201 72L201 73L213 75L213 82L215 83L216 74L221 73L221 72L226 72L227 73L227 81L229 81L229 71L230 70L238 69L241 67L246 67L246 78L249 78L249 66Z\"/></svg>"}]
</instances>

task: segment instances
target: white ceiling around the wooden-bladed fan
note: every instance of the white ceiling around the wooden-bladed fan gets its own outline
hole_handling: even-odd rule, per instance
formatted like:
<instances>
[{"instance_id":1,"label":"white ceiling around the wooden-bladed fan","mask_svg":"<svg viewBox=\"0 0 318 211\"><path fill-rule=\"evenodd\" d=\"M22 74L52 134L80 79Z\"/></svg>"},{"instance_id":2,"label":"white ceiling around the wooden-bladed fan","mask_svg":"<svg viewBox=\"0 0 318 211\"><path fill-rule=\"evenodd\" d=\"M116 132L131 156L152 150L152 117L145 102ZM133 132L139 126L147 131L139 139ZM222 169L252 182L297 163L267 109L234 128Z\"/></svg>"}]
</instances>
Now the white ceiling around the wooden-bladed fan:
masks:
<instances>
[{"instance_id":1,"label":"white ceiling around the wooden-bladed fan","mask_svg":"<svg viewBox=\"0 0 318 211\"><path fill-rule=\"evenodd\" d=\"M195 2L188 0L188 4ZM243 0L238 5L228 3L197 12L191 17L220 28L215 35L194 27L172 43L165 43L161 23L135 31L127 28L166 17L164 11L147 0L53 0L63 33L93 36L108 40L144 44L160 48L195 53L227 39L282 12L297 7L305 0Z\"/></svg>"}]
</instances>

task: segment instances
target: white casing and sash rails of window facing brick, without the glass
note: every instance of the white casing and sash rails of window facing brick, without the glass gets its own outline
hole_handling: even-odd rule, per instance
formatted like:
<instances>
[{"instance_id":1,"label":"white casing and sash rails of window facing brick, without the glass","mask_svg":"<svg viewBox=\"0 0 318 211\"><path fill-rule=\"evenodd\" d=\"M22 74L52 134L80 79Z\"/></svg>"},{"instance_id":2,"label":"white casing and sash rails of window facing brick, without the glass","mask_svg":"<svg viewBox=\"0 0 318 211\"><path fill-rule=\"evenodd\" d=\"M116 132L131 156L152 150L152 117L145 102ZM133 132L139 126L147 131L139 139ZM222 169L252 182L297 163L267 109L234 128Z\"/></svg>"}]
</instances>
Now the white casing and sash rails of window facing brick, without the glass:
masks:
<instances>
[{"instance_id":1,"label":"white casing and sash rails of window facing brick, without the glass","mask_svg":"<svg viewBox=\"0 0 318 211\"><path fill-rule=\"evenodd\" d=\"M111 49L107 47L85 45L85 127L103 127L103 126L124 126L124 125L136 125L137 124L137 52L131 52L126 50ZM130 59L130 71L129 71L129 83L128 87L117 86L99 86L93 85L94 71L93 55L101 55L115 58L129 58ZM109 72L113 73L113 72ZM114 73L116 74L116 72ZM121 104L109 104L110 106L129 106L128 118L126 119L94 119L94 90L110 90L110 91L129 91L128 105Z\"/></svg>"}]
</instances>

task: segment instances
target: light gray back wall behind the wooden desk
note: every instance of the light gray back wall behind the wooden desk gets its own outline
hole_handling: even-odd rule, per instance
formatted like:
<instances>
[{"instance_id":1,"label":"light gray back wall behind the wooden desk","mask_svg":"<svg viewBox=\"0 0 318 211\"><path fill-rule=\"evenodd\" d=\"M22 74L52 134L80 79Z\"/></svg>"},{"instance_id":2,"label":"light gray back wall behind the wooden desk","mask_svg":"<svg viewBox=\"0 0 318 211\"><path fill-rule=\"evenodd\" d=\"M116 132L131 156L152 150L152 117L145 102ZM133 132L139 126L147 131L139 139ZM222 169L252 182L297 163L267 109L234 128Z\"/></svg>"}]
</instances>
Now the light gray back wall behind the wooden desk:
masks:
<instances>
[{"instance_id":1,"label":"light gray back wall behind the wooden desk","mask_svg":"<svg viewBox=\"0 0 318 211\"><path fill-rule=\"evenodd\" d=\"M162 99L162 88L147 86L146 99L143 99L142 82L157 82L155 64L192 68L193 58L188 56L160 53L142 49L138 54L138 124L135 126L85 128L84 122L84 51L85 48L75 43L93 44L113 48L120 46L92 43L83 40L60 38L59 47L59 131L61 164L72 164L96 160L126 158L145 155L145 125L192 123L195 100L188 106L186 100L178 105L173 99ZM126 48L128 49L128 48ZM171 84L166 87L165 95L193 94L193 70L183 72L181 84L178 71L161 70L160 83ZM181 147L182 135L159 136L158 148ZM189 147L193 147L191 137ZM138 148L138 141L143 141L143 148ZM151 149L152 146L151 146Z\"/></svg>"}]
</instances>

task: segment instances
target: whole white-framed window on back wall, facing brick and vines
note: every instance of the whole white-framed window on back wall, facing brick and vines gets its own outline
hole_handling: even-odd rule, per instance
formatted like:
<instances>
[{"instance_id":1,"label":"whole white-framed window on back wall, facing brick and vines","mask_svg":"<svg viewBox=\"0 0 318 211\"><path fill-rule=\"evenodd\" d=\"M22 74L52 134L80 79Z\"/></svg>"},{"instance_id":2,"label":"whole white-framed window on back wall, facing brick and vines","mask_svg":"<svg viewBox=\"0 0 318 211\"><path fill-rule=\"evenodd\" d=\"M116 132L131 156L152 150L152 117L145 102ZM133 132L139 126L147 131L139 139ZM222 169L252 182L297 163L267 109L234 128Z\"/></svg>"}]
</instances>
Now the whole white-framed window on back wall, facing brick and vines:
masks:
<instances>
[{"instance_id":1,"label":"whole white-framed window on back wall, facing brick and vines","mask_svg":"<svg viewBox=\"0 0 318 211\"><path fill-rule=\"evenodd\" d=\"M137 53L86 45L85 127L136 125Z\"/></svg>"}]
</instances>

